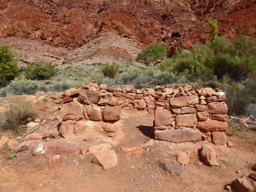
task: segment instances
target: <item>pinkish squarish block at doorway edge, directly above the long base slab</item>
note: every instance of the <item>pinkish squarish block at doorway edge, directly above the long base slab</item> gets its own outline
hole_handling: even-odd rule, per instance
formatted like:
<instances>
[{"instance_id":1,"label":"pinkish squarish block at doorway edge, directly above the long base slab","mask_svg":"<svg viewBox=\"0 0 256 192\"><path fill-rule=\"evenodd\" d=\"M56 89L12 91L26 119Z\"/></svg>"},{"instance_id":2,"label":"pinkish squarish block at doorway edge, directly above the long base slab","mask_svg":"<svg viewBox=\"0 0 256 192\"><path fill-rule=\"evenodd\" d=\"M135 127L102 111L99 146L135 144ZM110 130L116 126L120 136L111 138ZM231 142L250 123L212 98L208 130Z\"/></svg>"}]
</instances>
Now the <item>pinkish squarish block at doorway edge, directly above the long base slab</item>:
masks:
<instances>
[{"instance_id":1,"label":"pinkish squarish block at doorway edge, directly above the long base slab","mask_svg":"<svg viewBox=\"0 0 256 192\"><path fill-rule=\"evenodd\" d=\"M155 125L171 125L174 118L171 117L171 111L165 108L156 107L155 110Z\"/></svg>"}]
</instances>

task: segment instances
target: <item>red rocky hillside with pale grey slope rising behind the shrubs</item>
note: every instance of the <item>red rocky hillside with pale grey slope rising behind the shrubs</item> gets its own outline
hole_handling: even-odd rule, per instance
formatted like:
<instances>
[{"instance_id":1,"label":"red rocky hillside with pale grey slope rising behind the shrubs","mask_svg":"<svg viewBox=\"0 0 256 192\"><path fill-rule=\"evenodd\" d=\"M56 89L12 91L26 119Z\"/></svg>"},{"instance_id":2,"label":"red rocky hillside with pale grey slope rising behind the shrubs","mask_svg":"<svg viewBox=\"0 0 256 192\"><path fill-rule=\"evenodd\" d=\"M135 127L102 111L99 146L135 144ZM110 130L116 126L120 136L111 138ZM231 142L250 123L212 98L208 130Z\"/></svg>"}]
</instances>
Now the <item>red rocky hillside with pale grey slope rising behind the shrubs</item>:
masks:
<instances>
[{"instance_id":1,"label":"red rocky hillside with pale grey slope rising behind the shrubs","mask_svg":"<svg viewBox=\"0 0 256 192\"><path fill-rule=\"evenodd\" d=\"M127 63L154 42L169 56L206 42L210 18L221 36L256 38L254 0L1 0L0 43L21 63Z\"/></svg>"}]
</instances>

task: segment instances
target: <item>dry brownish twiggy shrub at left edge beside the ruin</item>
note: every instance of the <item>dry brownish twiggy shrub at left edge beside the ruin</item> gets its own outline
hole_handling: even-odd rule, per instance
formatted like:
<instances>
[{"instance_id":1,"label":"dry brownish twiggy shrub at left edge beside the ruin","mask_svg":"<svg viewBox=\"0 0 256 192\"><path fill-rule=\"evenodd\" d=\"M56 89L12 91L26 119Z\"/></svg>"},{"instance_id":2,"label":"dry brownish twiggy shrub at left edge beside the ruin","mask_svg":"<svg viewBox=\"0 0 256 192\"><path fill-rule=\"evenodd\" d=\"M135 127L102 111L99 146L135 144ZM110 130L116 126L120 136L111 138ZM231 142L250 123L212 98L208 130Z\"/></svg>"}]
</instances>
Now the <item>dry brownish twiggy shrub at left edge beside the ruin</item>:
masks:
<instances>
[{"instance_id":1,"label":"dry brownish twiggy shrub at left edge beside the ruin","mask_svg":"<svg viewBox=\"0 0 256 192\"><path fill-rule=\"evenodd\" d=\"M18 98L6 98L0 101L0 107L4 108L4 113L0 116L0 127L2 129L12 129L20 132L20 125L26 124L27 118L34 120L37 113L31 103Z\"/></svg>"}]
</instances>

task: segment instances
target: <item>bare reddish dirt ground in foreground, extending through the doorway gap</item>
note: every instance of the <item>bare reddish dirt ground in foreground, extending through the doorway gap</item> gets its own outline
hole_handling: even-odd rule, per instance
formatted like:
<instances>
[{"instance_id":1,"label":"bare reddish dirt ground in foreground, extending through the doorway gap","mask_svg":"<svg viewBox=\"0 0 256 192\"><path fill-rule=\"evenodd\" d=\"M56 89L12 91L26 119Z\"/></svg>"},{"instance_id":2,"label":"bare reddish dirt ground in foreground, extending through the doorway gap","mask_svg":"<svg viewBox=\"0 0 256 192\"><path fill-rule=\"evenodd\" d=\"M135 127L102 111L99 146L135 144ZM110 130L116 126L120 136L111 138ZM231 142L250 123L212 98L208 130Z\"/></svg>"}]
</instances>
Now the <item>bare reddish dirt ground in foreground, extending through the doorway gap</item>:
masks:
<instances>
[{"instance_id":1,"label":"bare reddish dirt ground in foreground, extending through the doorway gap","mask_svg":"<svg viewBox=\"0 0 256 192\"><path fill-rule=\"evenodd\" d=\"M65 158L64 167L49 170L48 159L21 154L8 163L2 152L0 192L225 192L226 184L252 172L251 166L256 163L255 132L240 132L229 137L235 145L232 148L214 146L221 164L219 168L209 167L197 159L194 164L183 167L183 177L161 171L157 165L159 158L176 160L176 152L199 149L201 143L155 141L153 120L153 115L145 113L123 114L124 138L113 146L118 164L109 170L92 164L91 155L84 159ZM129 157L120 150L134 146L145 146L144 153Z\"/></svg>"}]
</instances>

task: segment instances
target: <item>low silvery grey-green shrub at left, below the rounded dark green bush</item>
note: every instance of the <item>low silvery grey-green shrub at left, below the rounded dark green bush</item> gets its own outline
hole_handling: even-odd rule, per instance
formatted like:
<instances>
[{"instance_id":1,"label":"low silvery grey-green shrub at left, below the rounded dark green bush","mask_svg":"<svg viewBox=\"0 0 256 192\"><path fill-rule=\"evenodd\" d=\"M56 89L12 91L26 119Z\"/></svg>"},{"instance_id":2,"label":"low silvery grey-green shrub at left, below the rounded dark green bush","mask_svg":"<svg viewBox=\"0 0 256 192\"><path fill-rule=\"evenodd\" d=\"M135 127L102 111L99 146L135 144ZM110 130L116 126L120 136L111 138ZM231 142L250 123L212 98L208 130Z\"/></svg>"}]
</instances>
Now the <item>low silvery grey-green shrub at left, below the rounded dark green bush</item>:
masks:
<instances>
[{"instance_id":1,"label":"low silvery grey-green shrub at left, below the rounded dark green bush","mask_svg":"<svg viewBox=\"0 0 256 192\"><path fill-rule=\"evenodd\" d=\"M47 91L48 86L36 80L15 78L4 89L6 95L35 95L37 91ZM5 95L5 96L6 96Z\"/></svg>"}]
</instances>

